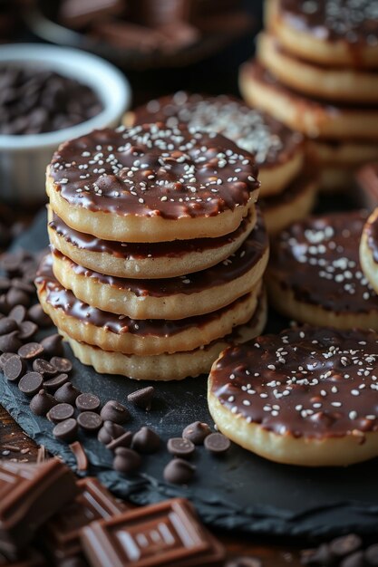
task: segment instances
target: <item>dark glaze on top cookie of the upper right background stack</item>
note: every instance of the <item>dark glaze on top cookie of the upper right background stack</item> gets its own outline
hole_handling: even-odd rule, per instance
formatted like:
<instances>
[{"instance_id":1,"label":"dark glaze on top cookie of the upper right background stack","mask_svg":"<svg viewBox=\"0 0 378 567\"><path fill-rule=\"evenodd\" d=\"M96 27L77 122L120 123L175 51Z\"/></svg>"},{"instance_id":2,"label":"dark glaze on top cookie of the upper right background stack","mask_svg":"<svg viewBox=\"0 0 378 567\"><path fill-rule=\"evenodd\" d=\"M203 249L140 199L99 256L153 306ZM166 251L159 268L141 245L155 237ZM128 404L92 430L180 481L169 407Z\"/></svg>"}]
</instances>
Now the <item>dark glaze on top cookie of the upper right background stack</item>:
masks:
<instances>
[{"instance_id":1,"label":"dark glaze on top cookie of the upper right background stack","mask_svg":"<svg viewBox=\"0 0 378 567\"><path fill-rule=\"evenodd\" d=\"M378 46L377 0L280 0L279 7L293 26L318 39Z\"/></svg>"}]
</instances>

